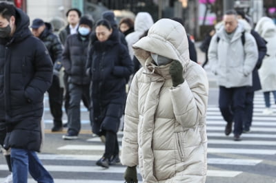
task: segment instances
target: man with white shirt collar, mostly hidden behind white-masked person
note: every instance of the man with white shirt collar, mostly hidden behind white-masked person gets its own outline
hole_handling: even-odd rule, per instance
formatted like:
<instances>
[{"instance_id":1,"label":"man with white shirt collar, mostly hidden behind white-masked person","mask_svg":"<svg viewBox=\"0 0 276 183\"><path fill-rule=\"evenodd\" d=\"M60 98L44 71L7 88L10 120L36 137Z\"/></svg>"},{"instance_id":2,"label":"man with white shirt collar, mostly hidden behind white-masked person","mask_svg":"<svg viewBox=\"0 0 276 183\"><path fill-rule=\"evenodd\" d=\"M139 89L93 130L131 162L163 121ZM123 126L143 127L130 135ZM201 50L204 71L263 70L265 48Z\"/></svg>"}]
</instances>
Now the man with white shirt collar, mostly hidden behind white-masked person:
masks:
<instances>
[{"instance_id":1,"label":"man with white shirt collar, mostly hidden behind white-masked person","mask_svg":"<svg viewBox=\"0 0 276 183\"><path fill-rule=\"evenodd\" d=\"M77 8L71 8L66 12L66 17L67 17L68 25L66 25L66 27L63 28L61 32L59 32L59 39L61 40L61 43L63 45L65 45L66 39L69 35L77 34L77 28L79 27L79 19L81 18L81 11ZM70 102L69 92L68 92L69 91L68 74L64 70L64 67L61 69L63 70L63 75L61 74L61 77L63 78L63 84L65 89L64 107L68 117L68 107ZM89 106L89 104L86 104L86 103L84 103L84 105L86 105L86 107ZM67 127L67 125L68 125L68 122L66 122L66 124L63 125L63 127Z\"/></svg>"}]
</instances>

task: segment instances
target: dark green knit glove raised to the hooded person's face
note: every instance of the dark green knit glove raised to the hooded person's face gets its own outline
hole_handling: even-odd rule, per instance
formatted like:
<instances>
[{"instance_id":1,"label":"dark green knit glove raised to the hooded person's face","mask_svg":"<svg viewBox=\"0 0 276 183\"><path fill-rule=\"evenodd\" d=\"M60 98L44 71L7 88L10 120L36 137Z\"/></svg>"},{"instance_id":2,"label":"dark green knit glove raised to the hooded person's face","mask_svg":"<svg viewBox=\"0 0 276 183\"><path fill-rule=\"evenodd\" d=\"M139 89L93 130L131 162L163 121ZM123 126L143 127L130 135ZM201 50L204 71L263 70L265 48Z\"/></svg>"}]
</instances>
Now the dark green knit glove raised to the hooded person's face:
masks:
<instances>
[{"instance_id":1,"label":"dark green knit glove raised to the hooded person's face","mask_svg":"<svg viewBox=\"0 0 276 183\"><path fill-rule=\"evenodd\" d=\"M170 76L172 77L172 87L184 83L183 67L179 61L172 61L170 64Z\"/></svg>"}]
</instances>

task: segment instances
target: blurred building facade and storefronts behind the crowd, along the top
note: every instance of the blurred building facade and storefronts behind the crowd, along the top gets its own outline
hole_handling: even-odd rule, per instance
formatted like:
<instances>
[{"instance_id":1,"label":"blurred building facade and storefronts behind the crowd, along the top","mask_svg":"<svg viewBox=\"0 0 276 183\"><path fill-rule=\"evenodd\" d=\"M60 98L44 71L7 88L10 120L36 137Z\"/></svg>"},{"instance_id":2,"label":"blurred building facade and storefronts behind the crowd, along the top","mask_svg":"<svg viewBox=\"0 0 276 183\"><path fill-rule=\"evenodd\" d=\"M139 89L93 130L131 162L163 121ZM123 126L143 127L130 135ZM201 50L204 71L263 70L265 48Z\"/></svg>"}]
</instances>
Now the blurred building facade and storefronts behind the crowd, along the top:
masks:
<instances>
[{"instance_id":1,"label":"blurred building facade and storefronts behind the crowd, along the top","mask_svg":"<svg viewBox=\"0 0 276 183\"><path fill-rule=\"evenodd\" d=\"M276 0L7 0L23 9L30 21L41 18L50 21L53 17L66 20L69 8L79 8L97 20L105 10L117 10L117 16L133 16L145 11L157 21L159 18L182 17L188 33L201 36L205 25L219 21L226 9L236 8L247 12L253 21L269 15L276 19ZM275 9L273 9L275 8ZM124 10L124 12L123 12Z\"/></svg>"}]
</instances>

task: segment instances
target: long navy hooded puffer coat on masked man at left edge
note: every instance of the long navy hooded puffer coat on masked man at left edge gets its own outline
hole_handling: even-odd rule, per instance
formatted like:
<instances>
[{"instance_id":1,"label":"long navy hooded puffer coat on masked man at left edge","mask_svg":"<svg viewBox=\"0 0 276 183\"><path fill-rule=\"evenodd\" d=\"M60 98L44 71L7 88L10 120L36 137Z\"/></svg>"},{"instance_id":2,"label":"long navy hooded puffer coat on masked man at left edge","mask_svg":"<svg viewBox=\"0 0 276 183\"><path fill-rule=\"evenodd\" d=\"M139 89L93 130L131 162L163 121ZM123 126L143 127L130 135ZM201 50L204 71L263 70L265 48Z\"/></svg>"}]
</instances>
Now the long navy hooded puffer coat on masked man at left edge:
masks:
<instances>
[{"instance_id":1,"label":"long navy hooded puffer coat on masked man at left edge","mask_svg":"<svg viewBox=\"0 0 276 183\"><path fill-rule=\"evenodd\" d=\"M43 42L32 36L27 14L16 8L15 19L13 36L0 39L0 133L7 132L5 149L39 151L43 96L51 84L52 61Z\"/></svg>"}]
</instances>

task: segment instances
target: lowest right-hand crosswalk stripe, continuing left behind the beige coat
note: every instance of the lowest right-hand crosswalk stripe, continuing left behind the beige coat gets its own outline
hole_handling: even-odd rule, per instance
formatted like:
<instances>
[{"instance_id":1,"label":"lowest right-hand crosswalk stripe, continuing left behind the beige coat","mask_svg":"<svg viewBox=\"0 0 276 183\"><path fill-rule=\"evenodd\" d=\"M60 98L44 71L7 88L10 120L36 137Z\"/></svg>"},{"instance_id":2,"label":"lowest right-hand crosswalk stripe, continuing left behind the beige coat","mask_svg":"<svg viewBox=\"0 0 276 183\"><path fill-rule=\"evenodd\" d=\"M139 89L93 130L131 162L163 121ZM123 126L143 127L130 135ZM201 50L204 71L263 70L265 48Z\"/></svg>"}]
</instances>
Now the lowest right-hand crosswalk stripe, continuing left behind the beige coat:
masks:
<instances>
[{"instance_id":1,"label":"lowest right-hand crosswalk stripe, continuing left behind the beige coat","mask_svg":"<svg viewBox=\"0 0 276 183\"><path fill-rule=\"evenodd\" d=\"M50 172L86 172L86 173L124 173L126 167L110 166L109 169L103 169L99 166L61 166L61 165L44 165ZM0 164L1 171L8 171L6 164ZM139 172L139 169L137 169ZM217 171L208 170L207 176L210 177L235 177L242 171ZM56 181L55 181L56 182Z\"/></svg>"}]
</instances>

